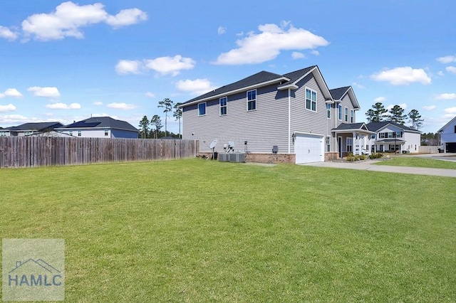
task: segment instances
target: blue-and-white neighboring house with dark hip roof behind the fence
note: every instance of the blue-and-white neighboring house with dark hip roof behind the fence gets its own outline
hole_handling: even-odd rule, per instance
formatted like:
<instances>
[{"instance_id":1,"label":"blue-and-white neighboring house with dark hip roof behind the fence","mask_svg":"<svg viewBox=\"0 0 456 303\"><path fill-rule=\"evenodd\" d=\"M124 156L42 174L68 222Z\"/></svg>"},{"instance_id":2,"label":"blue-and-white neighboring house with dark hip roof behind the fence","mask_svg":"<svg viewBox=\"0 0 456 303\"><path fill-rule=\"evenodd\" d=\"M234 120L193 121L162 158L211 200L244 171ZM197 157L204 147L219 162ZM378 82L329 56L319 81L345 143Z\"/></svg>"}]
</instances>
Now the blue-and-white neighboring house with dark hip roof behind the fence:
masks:
<instances>
[{"instance_id":1,"label":"blue-and-white neighboring house with dark hip roof behind the fence","mask_svg":"<svg viewBox=\"0 0 456 303\"><path fill-rule=\"evenodd\" d=\"M65 127L56 128L56 132L81 138L130 138L138 139L139 130L132 124L111 117L90 117L73 122Z\"/></svg>"}]
</instances>

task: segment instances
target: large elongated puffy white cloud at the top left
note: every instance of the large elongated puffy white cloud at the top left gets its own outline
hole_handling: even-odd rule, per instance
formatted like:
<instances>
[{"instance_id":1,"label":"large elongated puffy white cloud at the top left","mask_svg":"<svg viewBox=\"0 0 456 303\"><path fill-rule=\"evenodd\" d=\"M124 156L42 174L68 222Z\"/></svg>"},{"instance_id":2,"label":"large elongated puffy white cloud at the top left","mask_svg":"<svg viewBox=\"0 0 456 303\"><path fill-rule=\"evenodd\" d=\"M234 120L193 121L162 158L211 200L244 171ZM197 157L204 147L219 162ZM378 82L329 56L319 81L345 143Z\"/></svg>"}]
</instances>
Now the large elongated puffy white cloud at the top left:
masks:
<instances>
[{"instance_id":1,"label":"large elongated puffy white cloud at the top left","mask_svg":"<svg viewBox=\"0 0 456 303\"><path fill-rule=\"evenodd\" d=\"M50 14L33 14L22 22L26 37L48 41L65 37L83 38L82 27L105 22L118 28L147 19L139 9L125 9L115 16L109 15L100 3L79 6L71 1L63 2Z\"/></svg>"}]
</instances>

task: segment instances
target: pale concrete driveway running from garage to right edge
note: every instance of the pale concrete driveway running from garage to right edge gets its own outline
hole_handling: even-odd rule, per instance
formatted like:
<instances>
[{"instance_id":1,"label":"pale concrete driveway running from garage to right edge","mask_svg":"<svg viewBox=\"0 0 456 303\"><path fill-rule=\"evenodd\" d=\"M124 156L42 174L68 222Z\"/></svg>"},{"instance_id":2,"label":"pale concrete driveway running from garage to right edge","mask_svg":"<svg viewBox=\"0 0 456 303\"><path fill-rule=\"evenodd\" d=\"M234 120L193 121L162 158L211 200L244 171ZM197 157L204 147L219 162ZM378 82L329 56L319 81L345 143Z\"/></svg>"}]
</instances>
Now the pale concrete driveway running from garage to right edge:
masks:
<instances>
[{"instance_id":1,"label":"pale concrete driveway running from garage to right edge","mask_svg":"<svg viewBox=\"0 0 456 303\"><path fill-rule=\"evenodd\" d=\"M333 169L360 169L363 171L383 171L386 173L447 176L456 178L456 169L428 169L423 167L373 165L378 160L361 162L315 162L301 165L331 167Z\"/></svg>"}]
</instances>

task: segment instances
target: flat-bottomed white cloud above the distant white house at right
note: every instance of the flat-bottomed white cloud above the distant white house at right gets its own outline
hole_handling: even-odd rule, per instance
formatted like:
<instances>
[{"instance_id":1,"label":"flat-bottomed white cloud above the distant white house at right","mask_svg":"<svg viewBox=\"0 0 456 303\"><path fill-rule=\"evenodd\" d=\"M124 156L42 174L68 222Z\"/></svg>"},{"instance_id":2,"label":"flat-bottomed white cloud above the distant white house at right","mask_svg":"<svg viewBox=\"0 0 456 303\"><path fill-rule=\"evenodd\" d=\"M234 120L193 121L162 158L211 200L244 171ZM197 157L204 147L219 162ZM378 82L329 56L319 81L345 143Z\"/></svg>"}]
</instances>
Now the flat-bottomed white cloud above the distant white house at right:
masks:
<instances>
[{"instance_id":1,"label":"flat-bottomed white cloud above the distant white house at right","mask_svg":"<svg viewBox=\"0 0 456 303\"><path fill-rule=\"evenodd\" d=\"M409 85L410 83L430 84L431 79L422 68L415 69L410 66L403 68L393 68L391 70L383 70L371 75L375 81L386 81L392 85Z\"/></svg>"}]
</instances>

